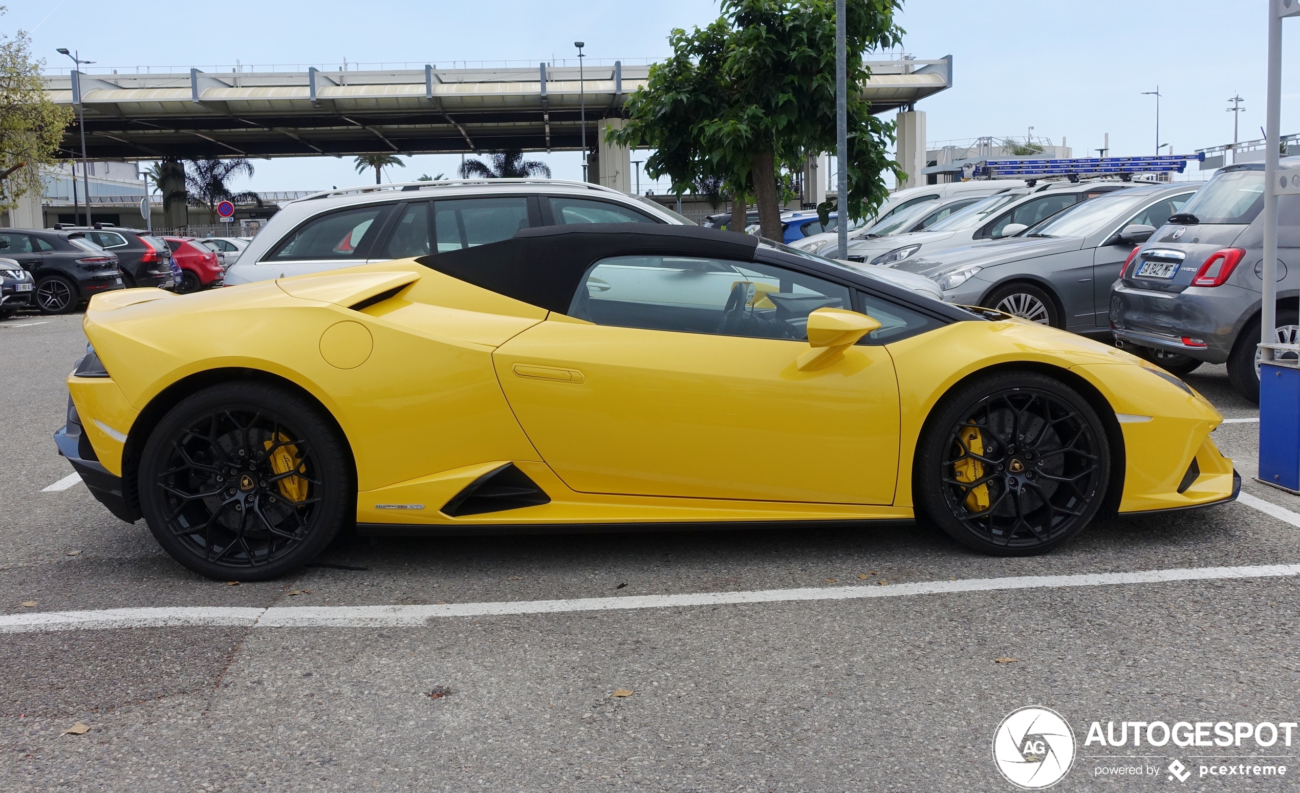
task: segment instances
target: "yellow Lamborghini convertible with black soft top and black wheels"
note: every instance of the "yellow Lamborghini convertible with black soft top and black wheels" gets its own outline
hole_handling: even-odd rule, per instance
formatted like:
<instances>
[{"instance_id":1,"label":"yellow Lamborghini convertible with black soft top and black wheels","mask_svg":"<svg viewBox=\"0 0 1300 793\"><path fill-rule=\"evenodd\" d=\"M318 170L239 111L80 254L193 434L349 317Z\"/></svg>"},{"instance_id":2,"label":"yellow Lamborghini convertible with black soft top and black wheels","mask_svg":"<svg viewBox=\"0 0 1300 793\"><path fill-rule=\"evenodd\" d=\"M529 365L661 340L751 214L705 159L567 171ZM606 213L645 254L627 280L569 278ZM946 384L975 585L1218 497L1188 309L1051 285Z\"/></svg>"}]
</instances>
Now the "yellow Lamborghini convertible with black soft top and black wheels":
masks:
<instances>
[{"instance_id":1,"label":"yellow Lamborghini convertible with black soft top and black wheels","mask_svg":"<svg viewBox=\"0 0 1300 793\"><path fill-rule=\"evenodd\" d=\"M289 240L292 240L290 235ZM55 439L181 564L361 534L909 521L989 554L1235 498L1219 413L1126 352L742 234L550 226L96 296Z\"/></svg>"}]
</instances>

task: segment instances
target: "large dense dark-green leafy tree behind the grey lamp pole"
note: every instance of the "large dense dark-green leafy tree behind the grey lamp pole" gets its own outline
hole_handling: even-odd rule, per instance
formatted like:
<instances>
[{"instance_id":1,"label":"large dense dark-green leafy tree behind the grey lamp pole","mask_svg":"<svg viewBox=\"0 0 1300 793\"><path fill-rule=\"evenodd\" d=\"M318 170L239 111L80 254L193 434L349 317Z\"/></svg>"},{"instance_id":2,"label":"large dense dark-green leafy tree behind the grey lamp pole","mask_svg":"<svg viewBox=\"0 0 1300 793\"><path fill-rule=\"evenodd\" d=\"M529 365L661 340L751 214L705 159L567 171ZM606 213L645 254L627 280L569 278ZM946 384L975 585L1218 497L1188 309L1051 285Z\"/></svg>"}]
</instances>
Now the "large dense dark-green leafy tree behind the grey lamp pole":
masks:
<instances>
[{"instance_id":1,"label":"large dense dark-green leafy tree behind the grey lamp pole","mask_svg":"<svg viewBox=\"0 0 1300 793\"><path fill-rule=\"evenodd\" d=\"M893 125L871 114L862 86L870 49L901 43L898 0L849 0L849 195L852 217L888 195L883 178L906 178L887 155ZM777 172L802 168L811 152L835 150L835 0L723 0L722 17L705 29L673 30L673 55L650 68L646 87L627 103L629 122L608 139L654 148L651 177L667 176L675 192L720 178L758 204L764 237L780 238ZM831 204L820 207L823 214Z\"/></svg>"}]
</instances>

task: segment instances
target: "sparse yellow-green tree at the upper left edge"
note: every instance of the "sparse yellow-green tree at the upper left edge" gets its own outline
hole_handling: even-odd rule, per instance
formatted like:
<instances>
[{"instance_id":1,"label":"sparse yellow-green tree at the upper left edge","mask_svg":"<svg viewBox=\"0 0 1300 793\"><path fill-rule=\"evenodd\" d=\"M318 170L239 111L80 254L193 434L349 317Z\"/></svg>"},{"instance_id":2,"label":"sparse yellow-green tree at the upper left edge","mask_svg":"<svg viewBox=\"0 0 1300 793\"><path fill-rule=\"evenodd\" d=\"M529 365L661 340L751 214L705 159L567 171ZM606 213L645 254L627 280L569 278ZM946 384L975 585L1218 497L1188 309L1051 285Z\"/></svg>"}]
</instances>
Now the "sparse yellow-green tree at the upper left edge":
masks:
<instances>
[{"instance_id":1,"label":"sparse yellow-green tree at the upper left edge","mask_svg":"<svg viewBox=\"0 0 1300 793\"><path fill-rule=\"evenodd\" d=\"M0 14L5 8L0 5ZM40 82L44 61L32 60L31 39L20 30L0 32L0 208L13 208L42 190L40 166L57 161L72 108L46 98Z\"/></svg>"}]
</instances>

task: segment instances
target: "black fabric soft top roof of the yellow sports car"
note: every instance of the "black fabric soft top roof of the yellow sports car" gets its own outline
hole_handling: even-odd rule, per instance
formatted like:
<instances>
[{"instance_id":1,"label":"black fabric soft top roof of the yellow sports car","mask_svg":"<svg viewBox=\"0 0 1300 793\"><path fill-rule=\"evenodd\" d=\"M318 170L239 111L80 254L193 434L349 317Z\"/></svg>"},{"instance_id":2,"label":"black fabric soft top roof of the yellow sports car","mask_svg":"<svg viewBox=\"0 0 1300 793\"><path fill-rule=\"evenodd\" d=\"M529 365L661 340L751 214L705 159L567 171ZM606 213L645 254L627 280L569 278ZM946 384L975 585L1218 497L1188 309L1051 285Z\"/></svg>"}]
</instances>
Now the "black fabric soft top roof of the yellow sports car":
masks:
<instances>
[{"instance_id":1,"label":"black fabric soft top roof of the yellow sports car","mask_svg":"<svg viewBox=\"0 0 1300 793\"><path fill-rule=\"evenodd\" d=\"M521 229L511 239L416 259L429 269L564 313L592 264L608 256L698 256L753 261L749 234L659 224Z\"/></svg>"}]
</instances>

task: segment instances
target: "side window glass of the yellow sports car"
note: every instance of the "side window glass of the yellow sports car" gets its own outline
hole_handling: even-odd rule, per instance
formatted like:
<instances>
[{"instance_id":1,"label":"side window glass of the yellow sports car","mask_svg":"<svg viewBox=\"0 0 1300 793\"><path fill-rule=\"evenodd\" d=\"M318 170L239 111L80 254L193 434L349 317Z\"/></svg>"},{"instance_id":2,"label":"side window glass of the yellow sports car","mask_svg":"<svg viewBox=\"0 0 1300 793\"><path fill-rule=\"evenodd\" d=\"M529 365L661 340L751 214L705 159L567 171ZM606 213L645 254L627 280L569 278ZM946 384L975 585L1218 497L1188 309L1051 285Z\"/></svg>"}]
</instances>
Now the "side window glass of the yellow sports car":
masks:
<instances>
[{"instance_id":1,"label":"side window glass of the yellow sports car","mask_svg":"<svg viewBox=\"0 0 1300 793\"><path fill-rule=\"evenodd\" d=\"M569 316L598 325L807 339L818 308L852 308L848 287L759 263L614 256L588 269Z\"/></svg>"}]
</instances>

